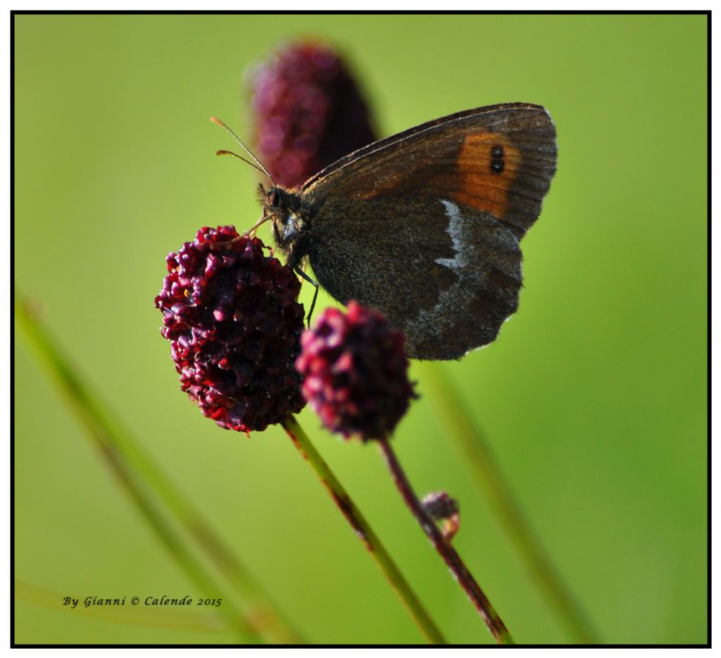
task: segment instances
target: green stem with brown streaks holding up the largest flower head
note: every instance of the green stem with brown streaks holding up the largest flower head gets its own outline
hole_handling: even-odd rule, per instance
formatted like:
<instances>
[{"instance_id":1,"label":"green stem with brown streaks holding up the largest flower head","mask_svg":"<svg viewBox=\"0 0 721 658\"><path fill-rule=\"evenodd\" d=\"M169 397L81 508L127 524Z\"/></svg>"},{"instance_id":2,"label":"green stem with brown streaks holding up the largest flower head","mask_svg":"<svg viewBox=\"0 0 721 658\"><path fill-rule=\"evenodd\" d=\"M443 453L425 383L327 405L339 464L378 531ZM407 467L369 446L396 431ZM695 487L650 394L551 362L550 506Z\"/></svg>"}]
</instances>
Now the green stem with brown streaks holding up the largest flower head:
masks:
<instances>
[{"instance_id":1,"label":"green stem with brown streaks holding up the largest flower head","mask_svg":"<svg viewBox=\"0 0 721 658\"><path fill-rule=\"evenodd\" d=\"M378 563L381 571L389 580L391 587L393 587L399 599L410 613L413 621L415 621L418 628L420 628L421 633L433 644L446 644L446 640L443 638L443 635L441 635L441 631L438 629L438 626L435 625L433 619L430 618L428 612L426 612L423 603L420 603L415 592L411 590L410 584L408 584L391 556L389 556L381 540L376 533L373 532L371 526L368 525L368 521L363 517L358 507L355 507L353 500L350 499L350 496L342 484L340 484L327 463L325 463L321 455L319 455L318 451L314 448L314 445L310 442L308 436L296 419L288 415L282 424L283 428L288 432L288 436L290 436L293 443L295 443L296 448L298 448L300 453L310 463L323 486L327 489L327 492L331 495L335 504L340 508L340 511L348 520L348 523L350 523L355 534L361 538L361 541L366 544L366 548L371 551L373 559Z\"/></svg>"}]
</instances>

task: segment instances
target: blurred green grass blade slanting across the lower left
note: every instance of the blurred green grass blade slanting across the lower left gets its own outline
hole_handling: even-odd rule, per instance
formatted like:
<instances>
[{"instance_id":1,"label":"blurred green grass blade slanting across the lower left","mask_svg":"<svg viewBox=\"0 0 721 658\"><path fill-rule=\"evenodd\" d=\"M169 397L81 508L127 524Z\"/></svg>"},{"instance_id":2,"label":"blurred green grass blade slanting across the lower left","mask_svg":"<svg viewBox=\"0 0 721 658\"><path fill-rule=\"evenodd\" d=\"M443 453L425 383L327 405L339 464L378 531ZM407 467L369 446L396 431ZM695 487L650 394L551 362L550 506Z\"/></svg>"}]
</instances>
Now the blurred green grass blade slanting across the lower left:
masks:
<instances>
[{"instance_id":1,"label":"blurred green grass blade slanting across the lower left","mask_svg":"<svg viewBox=\"0 0 721 658\"><path fill-rule=\"evenodd\" d=\"M275 610L270 599L246 566L213 532L202 515L183 496L161 469L146 455L131 434L84 385L68 364L58 346L35 319L27 300L16 294L15 317L30 339L40 361L58 383L71 408L81 419L89 435L99 448L125 490L136 502L138 511L151 524L169 551L193 578L201 590L215 591L218 586L204 567L193 557L179 535L163 517L161 505L172 512L188 533L208 555L218 572L243 601L244 613L226 603L218 610L228 615L231 627L242 634L244 641L273 641L296 644L301 642ZM230 602L231 599L226 599ZM224 610L225 608L225 610ZM249 620L252 620L249 621Z\"/></svg>"}]
</instances>

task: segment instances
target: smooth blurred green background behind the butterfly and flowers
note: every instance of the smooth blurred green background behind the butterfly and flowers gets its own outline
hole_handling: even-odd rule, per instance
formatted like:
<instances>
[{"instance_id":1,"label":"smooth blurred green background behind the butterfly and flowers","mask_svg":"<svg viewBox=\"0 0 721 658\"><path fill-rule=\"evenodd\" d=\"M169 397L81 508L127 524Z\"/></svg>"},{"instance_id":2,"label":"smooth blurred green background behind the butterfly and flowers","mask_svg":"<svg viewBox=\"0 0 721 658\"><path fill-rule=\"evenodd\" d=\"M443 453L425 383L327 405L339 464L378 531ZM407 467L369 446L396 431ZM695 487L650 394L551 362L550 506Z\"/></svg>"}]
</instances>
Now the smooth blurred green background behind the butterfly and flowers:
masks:
<instances>
[{"instance_id":1,"label":"smooth blurred green background behind the butterfly and flowers","mask_svg":"<svg viewBox=\"0 0 721 658\"><path fill-rule=\"evenodd\" d=\"M703 643L706 20L16 16L17 286L307 641L422 642L286 435L226 432L190 404L154 295L165 255L200 226L259 216L255 172L214 156L233 145L208 117L249 135L244 71L281 40L342 50L384 135L480 105L545 105L559 166L523 241L520 311L490 347L440 367L601 640ZM516 641L568 641L452 447L433 370L413 375L423 398L394 438L412 483L460 499L454 543ZM236 641L222 624L62 608L63 596L215 592L198 591L159 543L22 333L15 393L15 576L56 592L54 607L17 599L15 640ZM448 639L490 642L378 451L332 437L308 409L300 420Z\"/></svg>"}]
</instances>

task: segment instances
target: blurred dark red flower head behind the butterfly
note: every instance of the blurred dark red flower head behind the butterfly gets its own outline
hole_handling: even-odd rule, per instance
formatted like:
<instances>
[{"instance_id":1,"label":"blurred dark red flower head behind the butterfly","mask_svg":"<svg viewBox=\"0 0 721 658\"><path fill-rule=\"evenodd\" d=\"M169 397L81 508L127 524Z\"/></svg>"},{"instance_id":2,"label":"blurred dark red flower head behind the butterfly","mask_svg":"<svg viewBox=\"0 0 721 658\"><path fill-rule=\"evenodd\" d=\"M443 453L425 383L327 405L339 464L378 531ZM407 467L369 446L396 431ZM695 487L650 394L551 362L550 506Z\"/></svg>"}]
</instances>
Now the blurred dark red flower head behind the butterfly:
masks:
<instances>
[{"instance_id":1,"label":"blurred dark red flower head behind the butterfly","mask_svg":"<svg viewBox=\"0 0 721 658\"><path fill-rule=\"evenodd\" d=\"M368 107L327 45L293 43L249 75L258 159L283 187L376 139Z\"/></svg>"}]
</instances>

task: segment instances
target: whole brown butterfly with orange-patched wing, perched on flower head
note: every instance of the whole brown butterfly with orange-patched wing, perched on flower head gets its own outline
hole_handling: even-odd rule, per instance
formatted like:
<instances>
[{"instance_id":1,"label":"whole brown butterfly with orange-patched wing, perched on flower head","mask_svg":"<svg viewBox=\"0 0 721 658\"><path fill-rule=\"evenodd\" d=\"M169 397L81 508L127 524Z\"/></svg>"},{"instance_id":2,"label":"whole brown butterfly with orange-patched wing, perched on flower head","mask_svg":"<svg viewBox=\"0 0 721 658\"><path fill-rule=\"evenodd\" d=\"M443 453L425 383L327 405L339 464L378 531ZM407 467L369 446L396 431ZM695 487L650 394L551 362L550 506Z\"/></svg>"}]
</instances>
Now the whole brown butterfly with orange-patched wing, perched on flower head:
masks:
<instances>
[{"instance_id":1,"label":"whole brown butterfly with orange-patched wing, perched on flower head","mask_svg":"<svg viewBox=\"0 0 721 658\"><path fill-rule=\"evenodd\" d=\"M273 184L255 159L271 187L260 187L254 229L270 221L296 272L311 280L307 259L335 299L381 311L409 357L457 359L492 342L518 308L519 242L556 159L543 107L466 110L353 151L299 190Z\"/></svg>"}]
</instances>

